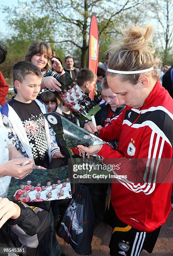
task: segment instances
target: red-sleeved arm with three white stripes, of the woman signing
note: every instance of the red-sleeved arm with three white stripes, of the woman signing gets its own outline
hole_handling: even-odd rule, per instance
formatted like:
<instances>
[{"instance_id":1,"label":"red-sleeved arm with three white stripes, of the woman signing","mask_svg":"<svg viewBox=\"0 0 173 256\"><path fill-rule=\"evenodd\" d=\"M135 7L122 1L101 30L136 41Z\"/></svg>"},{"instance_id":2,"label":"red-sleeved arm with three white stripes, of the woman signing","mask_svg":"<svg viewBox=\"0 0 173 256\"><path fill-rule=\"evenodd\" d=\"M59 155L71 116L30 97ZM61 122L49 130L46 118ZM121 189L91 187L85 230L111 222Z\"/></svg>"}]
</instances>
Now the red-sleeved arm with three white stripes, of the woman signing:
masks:
<instances>
[{"instance_id":1,"label":"red-sleeved arm with three white stripes, of the woman signing","mask_svg":"<svg viewBox=\"0 0 173 256\"><path fill-rule=\"evenodd\" d=\"M135 193L149 195L157 187L156 184L172 182L171 177L168 179L169 172L172 171L173 148L169 141L172 127L173 122L170 124L166 120L163 131L160 131L156 125L146 126L140 148L137 149L140 150L137 158L126 158L107 144L78 147L87 154L97 153L102 156L104 164L118 165L119 168L114 168L113 171L117 175L127 175L119 182Z\"/></svg>"}]
</instances>

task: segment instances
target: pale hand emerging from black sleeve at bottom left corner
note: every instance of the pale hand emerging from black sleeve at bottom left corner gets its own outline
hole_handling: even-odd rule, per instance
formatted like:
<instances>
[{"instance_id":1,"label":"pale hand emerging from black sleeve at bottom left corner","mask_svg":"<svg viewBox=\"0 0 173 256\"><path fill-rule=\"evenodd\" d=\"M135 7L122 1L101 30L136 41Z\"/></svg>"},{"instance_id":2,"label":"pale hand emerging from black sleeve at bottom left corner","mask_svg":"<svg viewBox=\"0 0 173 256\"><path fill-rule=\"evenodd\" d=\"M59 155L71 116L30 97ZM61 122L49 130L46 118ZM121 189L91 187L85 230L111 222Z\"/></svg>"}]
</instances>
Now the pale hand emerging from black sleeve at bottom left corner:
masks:
<instances>
[{"instance_id":1,"label":"pale hand emerging from black sleeve at bottom left corner","mask_svg":"<svg viewBox=\"0 0 173 256\"><path fill-rule=\"evenodd\" d=\"M15 220L19 216L20 207L7 198L0 197L0 228L8 219L12 218Z\"/></svg>"}]
</instances>

